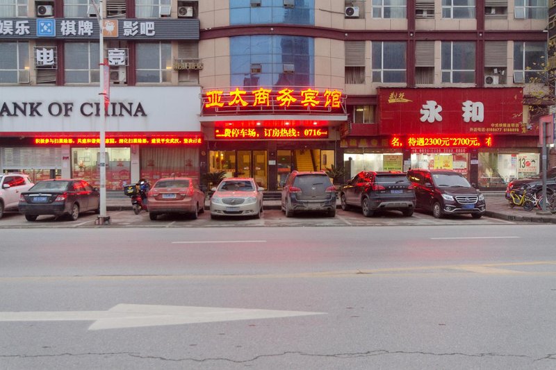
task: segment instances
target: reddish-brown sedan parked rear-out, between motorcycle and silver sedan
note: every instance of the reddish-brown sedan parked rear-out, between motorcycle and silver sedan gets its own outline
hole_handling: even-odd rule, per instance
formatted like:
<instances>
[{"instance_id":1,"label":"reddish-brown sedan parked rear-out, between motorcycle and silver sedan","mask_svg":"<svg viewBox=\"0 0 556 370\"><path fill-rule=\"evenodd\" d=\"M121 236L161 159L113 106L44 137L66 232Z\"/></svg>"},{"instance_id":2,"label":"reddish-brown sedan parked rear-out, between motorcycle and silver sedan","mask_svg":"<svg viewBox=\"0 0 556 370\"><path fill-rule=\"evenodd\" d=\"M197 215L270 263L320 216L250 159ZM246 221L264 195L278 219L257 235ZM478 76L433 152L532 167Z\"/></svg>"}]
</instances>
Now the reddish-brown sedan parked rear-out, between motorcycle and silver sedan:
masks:
<instances>
[{"instance_id":1,"label":"reddish-brown sedan parked rear-out, between motorcycle and silver sedan","mask_svg":"<svg viewBox=\"0 0 556 370\"><path fill-rule=\"evenodd\" d=\"M147 193L149 218L156 220L163 213L188 214L197 219L204 212L205 194L193 178L161 178Z\"/></svg>"}]
</instances>

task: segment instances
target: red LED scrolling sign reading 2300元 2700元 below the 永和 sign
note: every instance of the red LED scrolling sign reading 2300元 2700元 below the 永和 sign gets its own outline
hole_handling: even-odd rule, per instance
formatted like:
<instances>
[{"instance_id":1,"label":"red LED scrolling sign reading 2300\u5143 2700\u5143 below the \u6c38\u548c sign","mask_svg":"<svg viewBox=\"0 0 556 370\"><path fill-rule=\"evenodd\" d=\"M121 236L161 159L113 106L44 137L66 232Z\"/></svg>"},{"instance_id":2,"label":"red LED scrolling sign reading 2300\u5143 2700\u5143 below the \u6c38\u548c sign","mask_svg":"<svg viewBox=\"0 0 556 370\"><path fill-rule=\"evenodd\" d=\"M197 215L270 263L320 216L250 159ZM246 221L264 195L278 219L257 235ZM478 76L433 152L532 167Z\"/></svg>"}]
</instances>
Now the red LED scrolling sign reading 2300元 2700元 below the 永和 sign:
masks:
<instances>
[{"instance_id":1,"label":"red LED scrolling sign reading 2300\u5143 2700\u5143 below the \u6c38\u548c sign","mask_svg":"<svg viewBox=\"0 0 556 370\"><path fill-rule=\"evenodd\" d=\"M479 148L493 146L493 138L464 136L409 136L404 139L394 136L390 140L393 148Z\"/></svg>"}]
</instances>

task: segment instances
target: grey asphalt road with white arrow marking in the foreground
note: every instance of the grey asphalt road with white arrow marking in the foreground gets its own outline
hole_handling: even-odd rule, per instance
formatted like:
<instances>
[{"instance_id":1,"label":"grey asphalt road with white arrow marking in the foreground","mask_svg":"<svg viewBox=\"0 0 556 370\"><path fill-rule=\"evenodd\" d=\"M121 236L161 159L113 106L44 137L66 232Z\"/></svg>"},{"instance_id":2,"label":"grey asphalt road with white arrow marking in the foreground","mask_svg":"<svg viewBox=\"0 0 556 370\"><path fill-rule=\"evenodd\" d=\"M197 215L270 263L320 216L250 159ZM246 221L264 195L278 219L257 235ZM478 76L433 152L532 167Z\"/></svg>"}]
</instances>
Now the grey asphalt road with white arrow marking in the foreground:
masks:
<instances>
[{"instance_id":1,"label":"grey asphalt road with white arrow marking in the foreground","mask_svg":"<svg viewBox=\"0 0 556 370\"><path fill-rule=\"evenodd\" d=\"M0 369L553 369L555 228L452 221L5 228Z\"/></svg>"}]
</instances>

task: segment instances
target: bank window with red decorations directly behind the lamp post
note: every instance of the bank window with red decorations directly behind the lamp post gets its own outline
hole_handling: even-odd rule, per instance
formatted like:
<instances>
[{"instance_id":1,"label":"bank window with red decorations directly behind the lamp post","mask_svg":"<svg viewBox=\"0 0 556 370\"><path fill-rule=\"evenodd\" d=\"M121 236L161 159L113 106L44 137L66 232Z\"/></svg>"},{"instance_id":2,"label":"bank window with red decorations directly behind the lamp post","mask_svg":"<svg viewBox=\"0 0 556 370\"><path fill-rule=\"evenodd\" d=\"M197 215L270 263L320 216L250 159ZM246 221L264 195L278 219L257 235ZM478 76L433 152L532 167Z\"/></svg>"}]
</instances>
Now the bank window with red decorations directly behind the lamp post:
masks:
<instances>
[{"instance_id":1,"label":"bank window with red decorations directly behind the lamp post","mask_svg":"<svg viewBox=\"0 0 556 370\"><path fill-rule=\"evenodd\" d=\"M72 149L72 178L100 186L98 148ZM131 149L106 148L106 190L122 190L131 183Z\"/></svg>"}]
</instances>

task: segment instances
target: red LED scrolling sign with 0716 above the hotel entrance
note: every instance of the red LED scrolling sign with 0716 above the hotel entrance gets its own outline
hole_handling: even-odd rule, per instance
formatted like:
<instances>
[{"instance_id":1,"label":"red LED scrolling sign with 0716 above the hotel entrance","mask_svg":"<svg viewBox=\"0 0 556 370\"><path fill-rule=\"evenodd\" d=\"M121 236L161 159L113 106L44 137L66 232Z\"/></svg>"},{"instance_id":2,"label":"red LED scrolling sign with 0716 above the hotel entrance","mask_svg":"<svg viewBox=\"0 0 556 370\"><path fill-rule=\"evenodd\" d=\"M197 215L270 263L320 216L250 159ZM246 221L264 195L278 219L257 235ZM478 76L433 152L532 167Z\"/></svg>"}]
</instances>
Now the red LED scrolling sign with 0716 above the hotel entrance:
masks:
<instances>
[{"instance_id":1,"label":"red LED scrolling sign with 0716 above the hotel entrance","mask_svg":"<svg viewBox=\"0 0 556 370\"><path fill-rule=\"evenodd\" d=\"M328 128L215 128L217 139L317 139L327 138Z\"/></svg>"}]
</instances>

